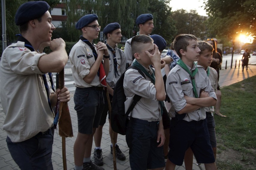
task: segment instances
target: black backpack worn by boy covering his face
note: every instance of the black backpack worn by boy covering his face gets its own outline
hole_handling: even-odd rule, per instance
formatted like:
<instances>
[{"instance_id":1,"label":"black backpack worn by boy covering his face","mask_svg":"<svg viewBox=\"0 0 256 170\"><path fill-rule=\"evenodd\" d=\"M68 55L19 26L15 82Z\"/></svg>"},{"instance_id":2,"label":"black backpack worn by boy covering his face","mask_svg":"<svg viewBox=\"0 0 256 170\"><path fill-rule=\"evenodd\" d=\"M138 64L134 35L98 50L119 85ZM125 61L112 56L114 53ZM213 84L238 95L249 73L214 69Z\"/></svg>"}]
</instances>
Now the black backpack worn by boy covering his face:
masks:
<instances>
[{"instance_id":1,"label":"black backpack worn by boy covering his face","mask_svg":"<svg viewBox=\"0 0 256 170\"><path fill-rule=\"evenodd\" d=\"M128 69L138 70L139 73L145 78L144 73L139 68L135 66L130 66L125 70L125 72ZM110 117L111 128L113 129L114 132L119 133L121 135L126 134L127 125L129 122L128 115L133 110L136 103L141 99L141 96L135 95L133 97L132 104L130 105L129 109L125 113L124 102L126 101L126 96L123 90L124 73L120 76L120 78L115 84L114 94L112 98L112 105L111 105L111 117Z\"/></svg>"}]
</instances>

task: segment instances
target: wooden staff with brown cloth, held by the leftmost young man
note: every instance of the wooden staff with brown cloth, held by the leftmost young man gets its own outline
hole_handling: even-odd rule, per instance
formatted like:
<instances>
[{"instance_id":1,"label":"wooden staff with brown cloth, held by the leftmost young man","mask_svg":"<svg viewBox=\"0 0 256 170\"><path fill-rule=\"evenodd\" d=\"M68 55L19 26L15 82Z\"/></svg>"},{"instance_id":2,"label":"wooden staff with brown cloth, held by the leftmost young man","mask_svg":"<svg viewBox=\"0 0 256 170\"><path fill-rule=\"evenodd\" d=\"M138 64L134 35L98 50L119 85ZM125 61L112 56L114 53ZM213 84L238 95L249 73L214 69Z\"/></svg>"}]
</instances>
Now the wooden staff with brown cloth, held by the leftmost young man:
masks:
<instances>
[{"instance_id":1,"label":"wooden staff with brown cloth, held by the leftmost young man","mask_svg":"<svg viewBox=\"0 0 256 170\"><path fill-rule=\"evenodd\" d=\"M64 69L59 72L59 89L64 87ZM59 103L59 135L62 136L63 169L67 170L66 137L73 137L71 117L68 102Z\"/></svg>"}]
</instances>

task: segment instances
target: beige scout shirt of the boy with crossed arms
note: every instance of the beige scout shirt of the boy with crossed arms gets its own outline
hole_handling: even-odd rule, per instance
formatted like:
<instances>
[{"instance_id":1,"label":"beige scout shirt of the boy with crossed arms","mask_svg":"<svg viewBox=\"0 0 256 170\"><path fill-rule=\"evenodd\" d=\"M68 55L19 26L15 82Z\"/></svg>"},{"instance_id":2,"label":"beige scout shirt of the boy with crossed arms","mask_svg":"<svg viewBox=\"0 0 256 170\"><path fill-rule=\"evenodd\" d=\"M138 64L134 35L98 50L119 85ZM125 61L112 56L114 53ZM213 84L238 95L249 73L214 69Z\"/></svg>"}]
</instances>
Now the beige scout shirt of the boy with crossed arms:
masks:
<instances>
[{"instance_id":1,"label":"beige scout shirt of the boy with crossed arms","mask_svg":"<svg viewBox=\"0 0 256 170\"><path fill-rule=\"evenodd\" d=\"M216 94L211 86L209 78L207 77L205 69L202 66L196 66L195 64L193 64L192 68L187 66L190 71L194 70L196 67L198 68L198 72L195 75L197 95L200 96L200 90L204 89L204 91L209 93L210 97L213 97L217 100ZM184 95L194 97L190 75L179 65L176 65L167 76L166 92L172 104L169 110L170 117L175 117L175 113L186 106L186 100L184 99ZM205 118L205 108L201 107L198 110L186 113L186 116L183 120L190 122L192 120L199 121Z\"/></svg>"}]
</instances>

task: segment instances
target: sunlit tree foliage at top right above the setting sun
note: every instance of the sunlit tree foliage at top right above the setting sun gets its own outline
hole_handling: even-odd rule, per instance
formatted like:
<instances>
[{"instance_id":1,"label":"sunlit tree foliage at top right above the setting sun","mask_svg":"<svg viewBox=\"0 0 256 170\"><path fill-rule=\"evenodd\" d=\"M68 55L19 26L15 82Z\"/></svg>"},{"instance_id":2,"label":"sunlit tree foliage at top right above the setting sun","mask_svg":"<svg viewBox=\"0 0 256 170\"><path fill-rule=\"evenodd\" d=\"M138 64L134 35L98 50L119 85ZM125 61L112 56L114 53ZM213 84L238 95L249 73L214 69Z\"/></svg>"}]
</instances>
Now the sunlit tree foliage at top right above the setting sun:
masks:
<instances>
[{"instance_id":1,"label":"sunlit tree foliage at top right above the setting sun","mask_svg":"<svg viewBox=\"0 0 256 170\"><path fill-rule=\"evenodd\" d=\"M239 33L256 35L255 0L208 0L204 3L209 15L208 36L234 39Z\"/></svg>"}]
</instances>

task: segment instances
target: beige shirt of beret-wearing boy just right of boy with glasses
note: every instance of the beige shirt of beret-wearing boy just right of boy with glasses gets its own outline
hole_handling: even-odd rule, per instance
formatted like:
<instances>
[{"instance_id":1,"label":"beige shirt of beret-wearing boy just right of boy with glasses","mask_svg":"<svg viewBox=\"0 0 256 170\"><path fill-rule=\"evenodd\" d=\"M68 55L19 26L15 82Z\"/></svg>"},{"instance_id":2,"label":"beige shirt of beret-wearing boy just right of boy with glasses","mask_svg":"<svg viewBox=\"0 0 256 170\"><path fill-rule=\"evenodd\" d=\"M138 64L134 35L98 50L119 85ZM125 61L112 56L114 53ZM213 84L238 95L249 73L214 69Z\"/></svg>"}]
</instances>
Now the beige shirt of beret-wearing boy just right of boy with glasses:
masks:
<instances>
[{"instance_id":1,"label":"beige shirt of beret-wearing boy just right of boy with glasses","mask_svg":"<svg viewBox=\"0 0 256 170\"><path fill-rule=\"evenodd\" d=\"M117 77L116 77L115 72L114 72L115 66L114 66L113 53L112 53L112 51L110 51L108 49L110 58L109 58L109 72L108 72L108 77L106 79L107 79L107 83L109 84L109 86L111 88L115 87L117 80L119 79L121 74L123 74L125 72L125 65L126 65L125 55L124 55L123 50L120 50L120 52L121 52L121 56L120 56L119 50L117 48L115 50L115 55L116 55L116 59L117 59L117 72L119 74L119 76L117 75Z\"/></svg>"}]
</instances>

